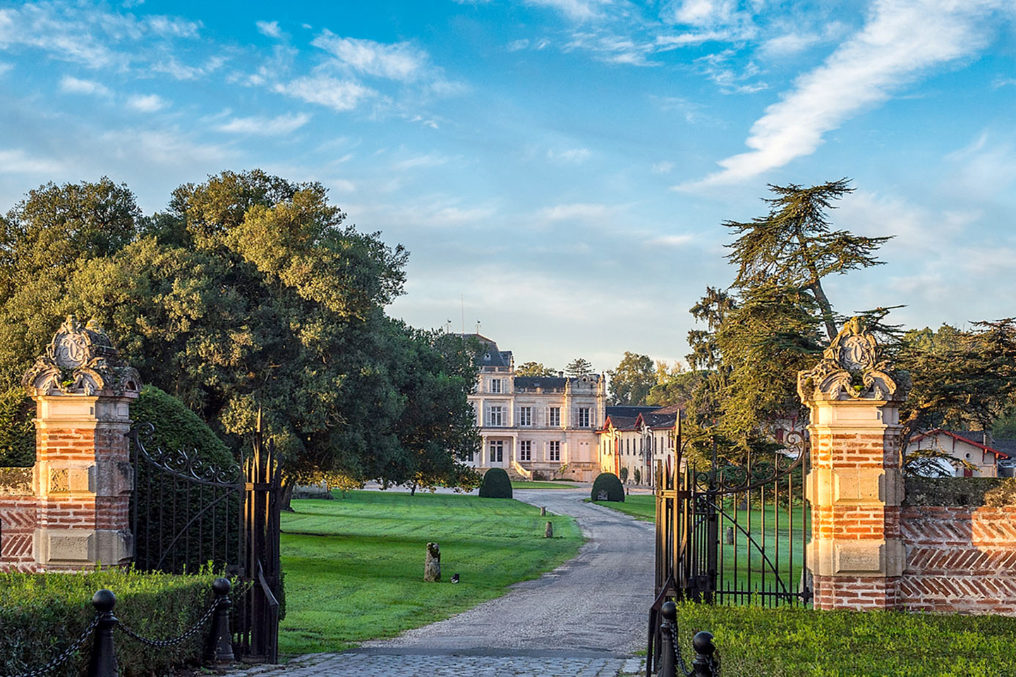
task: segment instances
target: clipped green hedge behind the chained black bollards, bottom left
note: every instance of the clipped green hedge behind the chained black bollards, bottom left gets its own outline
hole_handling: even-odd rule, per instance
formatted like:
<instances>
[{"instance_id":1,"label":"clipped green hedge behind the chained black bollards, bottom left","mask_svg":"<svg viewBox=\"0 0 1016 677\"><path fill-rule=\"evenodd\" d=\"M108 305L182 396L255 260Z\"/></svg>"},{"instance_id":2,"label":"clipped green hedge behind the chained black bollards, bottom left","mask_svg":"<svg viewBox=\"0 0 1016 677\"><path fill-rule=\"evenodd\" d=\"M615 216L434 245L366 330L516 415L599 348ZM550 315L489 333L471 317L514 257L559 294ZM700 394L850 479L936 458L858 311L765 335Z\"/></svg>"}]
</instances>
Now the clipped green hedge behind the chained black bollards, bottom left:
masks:
<instances>
[{"instance_id":1,"label":"clipped green hedge behind the chained black bollards, bottom left","mask_svg":"<svg viewBox=\"0 0 1016 677\"><path fill-rule=\"evenodd\" d=\"M117 596L116 617L139 634L167 639L197 621L214 600L210 572L191 576L110 569L81 573L0 572L0 673L40 668L70 646L94 617L91 596L106 588ZM197 662L210 626L167 649L150 649L114 634L121 677L165 675L175 665ZM90 639L54 677L84 675Z\"/></svg>"}]
</instances>

